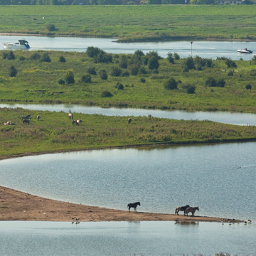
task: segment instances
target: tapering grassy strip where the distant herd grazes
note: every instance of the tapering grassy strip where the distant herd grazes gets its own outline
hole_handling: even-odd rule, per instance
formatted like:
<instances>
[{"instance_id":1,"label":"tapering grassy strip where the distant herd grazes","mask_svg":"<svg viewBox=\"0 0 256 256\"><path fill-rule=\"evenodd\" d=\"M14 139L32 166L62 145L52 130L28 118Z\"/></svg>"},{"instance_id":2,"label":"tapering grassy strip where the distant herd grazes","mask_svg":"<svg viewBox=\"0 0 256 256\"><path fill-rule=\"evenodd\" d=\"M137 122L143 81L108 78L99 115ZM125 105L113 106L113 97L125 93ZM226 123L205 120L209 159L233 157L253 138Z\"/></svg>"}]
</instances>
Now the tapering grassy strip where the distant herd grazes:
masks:
<instances>
[{"instance_id":1,"label":"tapering grassy strip where the distant herd grazes","mask_svg":"<svg viewBox=\"0 0 256 256\"><path fill-rule=\"evenodd\" d=\"M30 124L21 115L31 114ZM36 115L40 114L38 121ZM247 141L256 139L256 127L210 121L160 119L156 117L107 117L74 113L82 119L72 124L64 112L0 109L0 159L33 153L104 149L114 146ZM11 120L16 125L3 125Z\"/></svg>"}]
</instances>

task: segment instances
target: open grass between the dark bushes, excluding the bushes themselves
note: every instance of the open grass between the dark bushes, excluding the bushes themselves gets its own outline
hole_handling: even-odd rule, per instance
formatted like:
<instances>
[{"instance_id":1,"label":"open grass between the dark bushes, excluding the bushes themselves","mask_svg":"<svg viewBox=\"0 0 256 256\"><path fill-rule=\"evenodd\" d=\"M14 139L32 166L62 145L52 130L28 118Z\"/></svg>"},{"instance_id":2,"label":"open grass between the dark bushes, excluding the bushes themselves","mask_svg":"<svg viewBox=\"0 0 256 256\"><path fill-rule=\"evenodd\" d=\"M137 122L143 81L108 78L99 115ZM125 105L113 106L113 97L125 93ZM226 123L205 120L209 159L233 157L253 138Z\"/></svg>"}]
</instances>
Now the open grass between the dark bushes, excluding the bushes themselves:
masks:
<instances>
[{"instance_id":1,"label":"open grass between the dark bushes, excluding the bushes themselves","mask_svg":"<svg viewBox=\"0 0 256 256\"><path fill-rule=\"evenodd\" d=\"M36 53L42 58L46 52ZM213 60L213 68L203 67L201 71L183 72L184 60L175 60L175 63L171 64L163 58L159 60L158 73L152 72L147 65L142 64L138 69L144 68L146 74L112 77L112 68L120 68L122 55L113 55L112 63L95 63L94 58L89 58L86 53L47 53L50 63L41 62L41 59L30 60L34 54L30 51L15 51L15 60L0 58L0 101L256 113L254 61L238 60L235 61L238 68L228 68L225 60ZM65 63L59 62L61 55L65 57ZM25 60L20 60L21 57ZM132 57L127 56L128 67L120 68L122 73L131 73L134 65L129 65L129 61ZM11 65L18 70L14 78L9 77ZM91 75L92 82L85 83L81 78L82 75L87 75L88 68L95 68L97 75ZM75 83L58 84L58 80L64 79L68 70L73 71ZM100 78L100 70L106 70L107 80ZM233 75L228 75L230 71ZM206 79L210 76L216 80L223 78L225 87L206 86ZM142 82L142 78L145 82ZM181 81L178 83L178 89L164 88L164 82L169 78ZM124 90L117 90L117 82L122 83ZM188 83L196 87L196 93L188 94L183 90L183 86ZM247 84L252 85L252 90L245 89ZM113 96L101 97L104 90L111 92Z\"/></svg>"}]
</instances>

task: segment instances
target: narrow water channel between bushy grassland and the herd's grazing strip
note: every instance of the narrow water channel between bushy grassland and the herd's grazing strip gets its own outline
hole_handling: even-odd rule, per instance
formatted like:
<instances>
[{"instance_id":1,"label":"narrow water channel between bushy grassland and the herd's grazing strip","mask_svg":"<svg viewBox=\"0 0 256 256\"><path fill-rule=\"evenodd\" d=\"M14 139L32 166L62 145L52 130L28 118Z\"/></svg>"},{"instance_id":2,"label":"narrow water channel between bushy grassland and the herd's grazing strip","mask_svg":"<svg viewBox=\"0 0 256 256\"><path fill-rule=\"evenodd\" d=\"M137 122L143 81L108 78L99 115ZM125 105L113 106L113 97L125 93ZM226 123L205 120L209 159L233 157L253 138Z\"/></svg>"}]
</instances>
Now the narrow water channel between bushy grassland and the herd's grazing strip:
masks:
<instances>
[{"instance_id":1,"label":"narrow water channel between bushy grassland and the herd's grazing strip","mask_svg":"<svg viewBox=\"0 0 256 256\"><path fill-rule=\"evenodd\" d=\"M84 114L104 114L107 116L148 116L169 118L169 119L185 119L185 120L210 120L225 124L237 125L256 125L256 114L230 113L230 112L186 112L186 111L167 111L167 110L142 110L131 108L102 108L102 107L86 107L82 105L36 105L36 104L8 104L0 103L0 107L22 107L28 110L43 111L64 111L71 110L73 113Z\"/></svg>"}]
</instances>

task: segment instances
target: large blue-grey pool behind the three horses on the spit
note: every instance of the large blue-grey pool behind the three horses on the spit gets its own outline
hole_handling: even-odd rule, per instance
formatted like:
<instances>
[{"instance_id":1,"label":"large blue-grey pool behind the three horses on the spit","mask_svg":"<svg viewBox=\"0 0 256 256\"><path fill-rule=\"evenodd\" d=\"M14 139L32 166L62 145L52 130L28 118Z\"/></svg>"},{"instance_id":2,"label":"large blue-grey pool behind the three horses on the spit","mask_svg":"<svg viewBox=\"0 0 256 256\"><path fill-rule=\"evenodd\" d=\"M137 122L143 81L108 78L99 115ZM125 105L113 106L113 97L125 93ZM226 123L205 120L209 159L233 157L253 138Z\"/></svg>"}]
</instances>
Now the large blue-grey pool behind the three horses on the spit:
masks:
<instances>
[{"instance_id":1,"label":"large blue-grey pool behind the three horses on the spit","mask_svg":"<svg viewBox=\"0 0 256 256\"><path fill-rule=\"evenodd\" d=\"M0 185L61 201L256 221L255 142L107 149L0 161Z\"/></svg>"}]
</instances>

